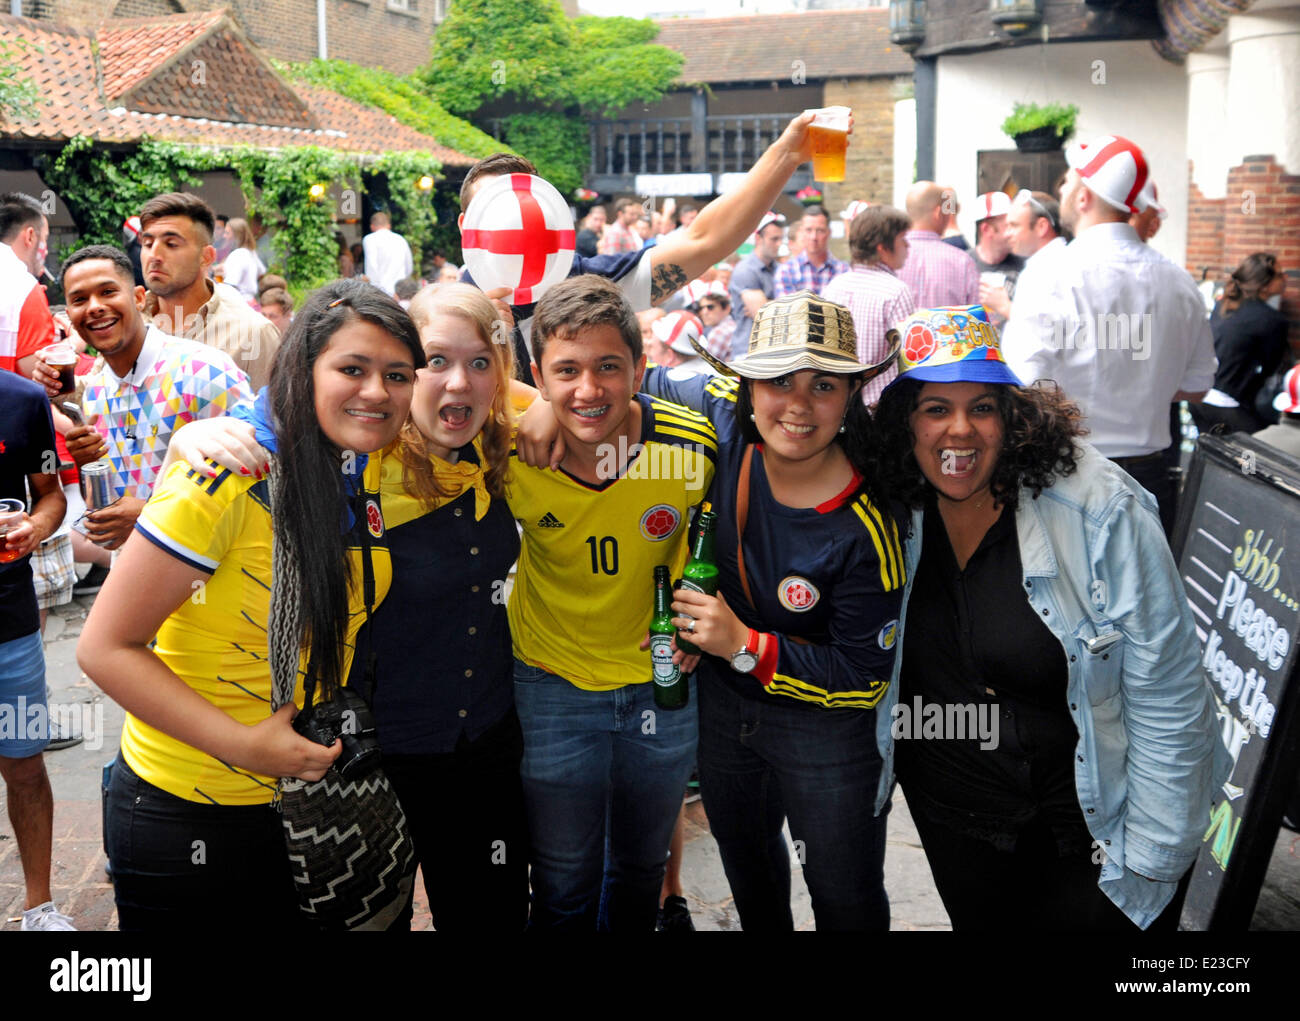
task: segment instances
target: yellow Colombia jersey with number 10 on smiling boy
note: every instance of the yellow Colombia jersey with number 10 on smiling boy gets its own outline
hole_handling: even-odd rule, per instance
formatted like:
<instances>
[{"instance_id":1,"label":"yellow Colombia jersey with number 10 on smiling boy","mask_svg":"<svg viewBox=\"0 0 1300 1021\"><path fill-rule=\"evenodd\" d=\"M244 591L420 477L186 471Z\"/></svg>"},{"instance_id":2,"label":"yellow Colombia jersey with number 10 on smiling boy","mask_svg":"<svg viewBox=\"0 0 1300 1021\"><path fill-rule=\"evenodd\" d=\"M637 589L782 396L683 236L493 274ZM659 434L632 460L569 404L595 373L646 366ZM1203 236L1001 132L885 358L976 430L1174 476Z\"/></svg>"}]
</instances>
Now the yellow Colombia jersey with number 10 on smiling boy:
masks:
<instances>
[{"instance_id":1,"label":"yellow Colombia jersey with number 10 on smiling boy","mask_svg":"<svg viewBox=\"0 0 1300 1021\"><path fill-rule=\"evenodd\" d=\"M708 419L636 399L644 446L623 476L593 486L564 471L511 466L507 498L524 529L510 598L515 656L589 691L650 680L650 653L638 645L650 626L654 568L680 572L688 511L714 477L718 438Z\"/></svg>"}]
</instances>

